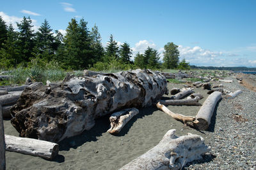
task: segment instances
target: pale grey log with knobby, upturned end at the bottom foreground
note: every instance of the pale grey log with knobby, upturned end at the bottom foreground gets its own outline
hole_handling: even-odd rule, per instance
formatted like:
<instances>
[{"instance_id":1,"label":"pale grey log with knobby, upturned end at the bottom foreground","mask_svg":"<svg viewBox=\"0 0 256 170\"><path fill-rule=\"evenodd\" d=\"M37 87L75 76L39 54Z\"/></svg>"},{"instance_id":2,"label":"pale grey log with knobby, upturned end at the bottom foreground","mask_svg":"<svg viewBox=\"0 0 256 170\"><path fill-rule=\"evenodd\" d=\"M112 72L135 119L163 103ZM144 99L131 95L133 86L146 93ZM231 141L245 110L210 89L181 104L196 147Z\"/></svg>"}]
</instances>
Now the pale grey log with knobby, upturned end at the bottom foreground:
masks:
<instances>
[{"instance_id":1,"label":"pale grey log with knobby, upturned end at the bottom foreground","mask_svg":"<svg viewBox=\"0 0 256 170\"><path fill-rule=\"evenodd\" d=\"M188 162L199 160L210 151L200 135L175 135L169 130L151 150L135 158L120 169L182 169Z\"/></svg>"}]
</instances>

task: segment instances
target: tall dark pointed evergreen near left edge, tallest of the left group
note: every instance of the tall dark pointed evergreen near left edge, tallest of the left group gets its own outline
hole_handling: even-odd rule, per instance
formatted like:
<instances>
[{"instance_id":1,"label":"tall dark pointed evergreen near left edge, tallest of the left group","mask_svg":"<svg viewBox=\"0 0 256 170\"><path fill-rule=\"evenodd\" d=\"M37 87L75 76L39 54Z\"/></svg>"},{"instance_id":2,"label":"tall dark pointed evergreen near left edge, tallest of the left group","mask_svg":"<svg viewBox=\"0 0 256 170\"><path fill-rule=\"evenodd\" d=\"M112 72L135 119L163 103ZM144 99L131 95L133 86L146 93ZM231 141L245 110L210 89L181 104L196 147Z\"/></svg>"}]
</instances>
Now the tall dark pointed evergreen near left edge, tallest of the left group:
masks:
<instances>
[{"instance_id":1,"label":"tall dark pointed evergreen near left edge, tallest of the left group","mask_svg":"<svg viewBox=\"0 0 256 170\"><path fill-rule=\"evenodd\" d=\"M19 32L19 47L20 47L20 57L22 61L29 62L33 58L33 49L35 47L35 35L32 29L32 20L30 17L23 17L23 20L17 23Z\"/></svg>"}]
</instances>

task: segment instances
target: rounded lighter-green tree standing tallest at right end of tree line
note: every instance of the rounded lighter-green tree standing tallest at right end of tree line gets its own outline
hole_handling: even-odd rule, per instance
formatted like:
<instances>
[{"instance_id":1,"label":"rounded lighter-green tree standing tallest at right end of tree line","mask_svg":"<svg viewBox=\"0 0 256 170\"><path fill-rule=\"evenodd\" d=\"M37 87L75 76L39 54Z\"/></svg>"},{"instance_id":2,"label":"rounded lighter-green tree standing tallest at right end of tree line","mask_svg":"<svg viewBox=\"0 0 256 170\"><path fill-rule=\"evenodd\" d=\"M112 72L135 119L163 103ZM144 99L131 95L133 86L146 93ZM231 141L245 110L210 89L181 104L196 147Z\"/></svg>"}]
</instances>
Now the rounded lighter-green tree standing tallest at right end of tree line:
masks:
<instances>
[{"instance_id":1,"label":"rounded lighter-green tree standing tallest at right end of tree line","mask_svg":"<svg viewBox=\"0 0 256 170\"><path fill-rule=\"evenodd\" d=\"M168 42L164 45L164 58L163 58L163 66L164 68L177 68L179 63L179 55L180 52L178 50L178 45L175 45L173 42Z\"/></svg>"}]
</instances>

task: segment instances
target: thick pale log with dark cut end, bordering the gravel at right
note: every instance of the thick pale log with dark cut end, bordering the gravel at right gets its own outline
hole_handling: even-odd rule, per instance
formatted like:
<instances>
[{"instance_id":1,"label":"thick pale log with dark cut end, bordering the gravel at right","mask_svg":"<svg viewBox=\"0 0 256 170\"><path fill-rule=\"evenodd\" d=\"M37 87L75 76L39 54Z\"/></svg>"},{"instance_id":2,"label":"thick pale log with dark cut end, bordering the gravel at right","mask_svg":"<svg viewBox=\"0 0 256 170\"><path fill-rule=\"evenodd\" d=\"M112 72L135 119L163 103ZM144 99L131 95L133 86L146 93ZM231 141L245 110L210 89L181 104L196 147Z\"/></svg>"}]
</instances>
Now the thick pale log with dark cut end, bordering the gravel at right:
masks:
<instances>
[{"instance_id":1,"label":"thick pale log with dark cut end, bordering the gravel at right","mask_svg":"<svg viewBox=\"0 0 256 170\"><path fill-rule=\"evenodd\" d=\"M204 104L196 114L196 128L199 130L207 130L212 118L212 113L215 109L217 102L221 99L221 92L214 91L209 97L206 98Z\"/></svg>"}]
</instances>

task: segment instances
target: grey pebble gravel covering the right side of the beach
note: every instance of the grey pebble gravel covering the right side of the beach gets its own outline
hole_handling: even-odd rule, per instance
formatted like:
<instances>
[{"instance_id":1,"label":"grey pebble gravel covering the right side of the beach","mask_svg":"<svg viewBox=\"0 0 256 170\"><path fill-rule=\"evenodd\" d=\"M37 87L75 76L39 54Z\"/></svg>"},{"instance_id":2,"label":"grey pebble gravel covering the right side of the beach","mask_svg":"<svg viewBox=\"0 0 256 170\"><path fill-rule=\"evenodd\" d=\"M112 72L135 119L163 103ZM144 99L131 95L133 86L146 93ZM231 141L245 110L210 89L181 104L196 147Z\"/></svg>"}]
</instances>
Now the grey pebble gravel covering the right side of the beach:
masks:
<instances>
[{"instance_id":1,"label":"grey pebble gravel covering the right side of the beach","mask_svg":"<svg viewBox=\"0 0 256 170\"><path fill-rule=\"evenodd\" d=\"M230 79L234 82L223 83L224 89L243 93L219 102L215 121L204 132L211 151L184 169L256 169L256 93Z\"/></svg>"}]
</instances>

